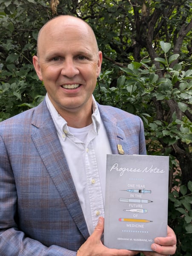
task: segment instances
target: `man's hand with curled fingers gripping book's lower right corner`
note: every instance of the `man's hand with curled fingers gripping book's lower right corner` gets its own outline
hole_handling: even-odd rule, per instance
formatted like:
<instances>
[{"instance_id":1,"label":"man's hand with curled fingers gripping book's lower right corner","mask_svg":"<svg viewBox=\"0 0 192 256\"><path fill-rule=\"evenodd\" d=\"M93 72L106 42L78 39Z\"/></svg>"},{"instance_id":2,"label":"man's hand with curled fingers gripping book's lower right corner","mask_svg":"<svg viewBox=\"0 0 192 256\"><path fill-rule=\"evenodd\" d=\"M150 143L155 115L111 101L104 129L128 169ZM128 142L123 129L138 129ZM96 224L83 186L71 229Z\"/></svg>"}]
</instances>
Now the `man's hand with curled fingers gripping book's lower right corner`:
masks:
<instances>
[{"instance_id":1,"label":"man's hand with curled fingers gripping book's lower right corner","mask_svg":"<svg viewBox=\"0 0 192 256\"><path fill-rule=\"evenodd\" d=\"M155 238L155 243L151 245L153 252L143 252L145 256L173 255L176 251L176 236L174 231L168 226L166 237Z\"/></svg>"}]
</instances>

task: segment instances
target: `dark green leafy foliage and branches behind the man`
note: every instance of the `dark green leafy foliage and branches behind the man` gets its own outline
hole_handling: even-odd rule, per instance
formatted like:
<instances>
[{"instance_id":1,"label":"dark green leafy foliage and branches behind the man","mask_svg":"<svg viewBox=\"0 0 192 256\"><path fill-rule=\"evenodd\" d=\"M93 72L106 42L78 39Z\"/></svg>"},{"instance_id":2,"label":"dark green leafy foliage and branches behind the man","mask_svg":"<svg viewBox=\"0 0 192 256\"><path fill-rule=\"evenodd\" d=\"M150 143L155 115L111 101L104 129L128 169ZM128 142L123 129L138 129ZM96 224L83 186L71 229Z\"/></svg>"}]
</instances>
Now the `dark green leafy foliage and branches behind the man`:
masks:
<instances>
[{"instance_id":1,"label":"dark green leafy foliage and branches behind the man","mask_svg":"<svg viewBox=\"0 0 192 256\"><path fill-rule=\"evenodd\" d=\"M143 119L148 154L169 155L176 256L192 255L192 1L0 0L0 121L45 95L32 65L39 29L75 15L103 52L94 95Z\"/></svg>"}]
</instances>

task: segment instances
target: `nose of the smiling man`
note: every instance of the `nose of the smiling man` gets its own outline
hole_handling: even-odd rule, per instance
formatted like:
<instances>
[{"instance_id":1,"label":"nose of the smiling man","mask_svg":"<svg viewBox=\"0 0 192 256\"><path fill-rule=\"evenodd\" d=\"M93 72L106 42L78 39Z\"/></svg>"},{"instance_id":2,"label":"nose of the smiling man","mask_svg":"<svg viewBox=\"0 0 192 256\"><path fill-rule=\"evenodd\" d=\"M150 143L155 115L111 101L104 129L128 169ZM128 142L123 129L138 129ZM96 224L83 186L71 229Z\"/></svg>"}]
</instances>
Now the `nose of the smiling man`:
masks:
<instances>
[{"instance_id":1,"label":"nose of the smiling man","mask_svg":"<svg viewBox=\"0 0 192 256\"><path fill-rule=\"evenodd\" d=\"M75 61L71 58L65 59L62 66L61 75L72 78L78 74L79 70L75 64Z\"/></svg>"}]
</instances>

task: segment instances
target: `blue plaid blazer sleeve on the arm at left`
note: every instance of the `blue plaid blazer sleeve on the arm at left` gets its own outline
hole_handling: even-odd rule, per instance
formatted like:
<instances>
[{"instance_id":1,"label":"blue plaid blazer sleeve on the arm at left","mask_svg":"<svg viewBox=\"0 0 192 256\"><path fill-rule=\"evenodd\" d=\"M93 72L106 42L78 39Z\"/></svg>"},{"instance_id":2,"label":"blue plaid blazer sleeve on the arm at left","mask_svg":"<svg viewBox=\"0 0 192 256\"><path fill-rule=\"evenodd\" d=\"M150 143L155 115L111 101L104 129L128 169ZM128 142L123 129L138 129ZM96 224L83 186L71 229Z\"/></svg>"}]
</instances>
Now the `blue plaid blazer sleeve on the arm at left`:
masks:
<instances>
[{"instance_id":1,"label":"blue plaid blazer sleeve on the arm at left","mask_svg":"<svg viewBox=\"0 0 192 256\"><path fill-rule=\"evenodd\" d=\"M76 252L57 245L46 247L19 230L17 188L3 138L0 136L0 255L75 256Z\"/></svg>"}]
</instances>

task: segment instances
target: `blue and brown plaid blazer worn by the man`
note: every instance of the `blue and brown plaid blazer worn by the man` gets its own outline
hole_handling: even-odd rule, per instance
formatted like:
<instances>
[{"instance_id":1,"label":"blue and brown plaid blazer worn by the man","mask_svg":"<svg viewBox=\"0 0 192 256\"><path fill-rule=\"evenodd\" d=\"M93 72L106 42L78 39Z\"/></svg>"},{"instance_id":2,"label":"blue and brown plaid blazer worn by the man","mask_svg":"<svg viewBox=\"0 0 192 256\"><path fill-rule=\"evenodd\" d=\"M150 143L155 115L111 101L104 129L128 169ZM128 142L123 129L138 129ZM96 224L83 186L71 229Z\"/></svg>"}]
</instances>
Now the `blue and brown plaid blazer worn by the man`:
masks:
<instances>
[{"instance_id":1,"label":"blue and brown plaid blazer worn by the man","mask_svg":"<svg viewBox=\"0 0 192 256\"><path fill-rule=\"evenodd\" d=\"M113 154L146 154L138 116L98 105ZM101 145L102 147L102 145ZM0 123L0 255L75 256L89 237L45 100Z\"/></svg>"}]
</instances>

